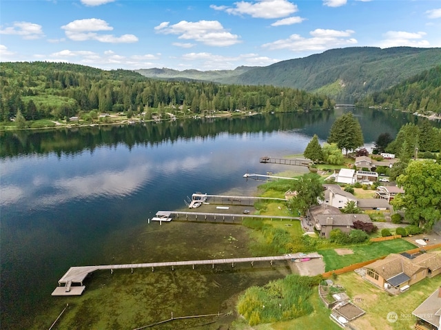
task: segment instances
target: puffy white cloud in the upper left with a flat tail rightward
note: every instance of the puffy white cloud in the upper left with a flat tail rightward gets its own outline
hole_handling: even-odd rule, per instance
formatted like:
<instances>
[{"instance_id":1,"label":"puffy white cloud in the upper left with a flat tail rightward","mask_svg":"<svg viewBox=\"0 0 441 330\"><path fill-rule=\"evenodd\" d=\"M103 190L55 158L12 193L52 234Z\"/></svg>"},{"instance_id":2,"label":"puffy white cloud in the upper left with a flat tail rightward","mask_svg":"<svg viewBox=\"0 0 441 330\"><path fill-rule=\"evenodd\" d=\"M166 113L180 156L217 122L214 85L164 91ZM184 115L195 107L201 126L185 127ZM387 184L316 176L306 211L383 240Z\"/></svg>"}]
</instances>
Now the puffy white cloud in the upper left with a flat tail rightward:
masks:
<instances>
[{"instance_id":1,"label":"puffy white cloud in the upper left with a flat tail rightward","mask_svg":"<svg viewBox=\"0 0 441 330\"><path fill-rule=\"evenodd\" d=\"M96 40L102 43L134 43L138 37L134 34L123 34L115 37L113 34L98 34L99 31L113 30L112 26L102 19L77 19L61 26L66 37L73 41Z\"/></svg>"}]
</instances>

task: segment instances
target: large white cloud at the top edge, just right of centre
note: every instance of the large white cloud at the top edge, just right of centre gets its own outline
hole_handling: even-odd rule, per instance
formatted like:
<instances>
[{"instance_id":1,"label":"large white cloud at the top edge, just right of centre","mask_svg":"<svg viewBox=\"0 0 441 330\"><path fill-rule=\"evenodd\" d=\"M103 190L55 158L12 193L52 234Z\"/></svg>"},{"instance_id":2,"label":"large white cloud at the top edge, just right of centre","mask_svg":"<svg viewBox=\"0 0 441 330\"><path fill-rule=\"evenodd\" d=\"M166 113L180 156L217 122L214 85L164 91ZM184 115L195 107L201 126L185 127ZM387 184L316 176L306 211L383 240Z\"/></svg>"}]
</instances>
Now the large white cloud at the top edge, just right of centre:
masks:
<instances>
[{"instance_id":1,"label":"large white cloud at the top edge, just right of centre","mask_svg":"<svg viewBox=\"0 0 441 330\"><path fill-rule=\"evenodd\" d=\"M298 11L297 6L287 0L258 0L256 2L238 1L236 7L210 6L214 10L222 10L228 14L247 14L258 19L278 19Z\"/></svg>"}]
</instances>

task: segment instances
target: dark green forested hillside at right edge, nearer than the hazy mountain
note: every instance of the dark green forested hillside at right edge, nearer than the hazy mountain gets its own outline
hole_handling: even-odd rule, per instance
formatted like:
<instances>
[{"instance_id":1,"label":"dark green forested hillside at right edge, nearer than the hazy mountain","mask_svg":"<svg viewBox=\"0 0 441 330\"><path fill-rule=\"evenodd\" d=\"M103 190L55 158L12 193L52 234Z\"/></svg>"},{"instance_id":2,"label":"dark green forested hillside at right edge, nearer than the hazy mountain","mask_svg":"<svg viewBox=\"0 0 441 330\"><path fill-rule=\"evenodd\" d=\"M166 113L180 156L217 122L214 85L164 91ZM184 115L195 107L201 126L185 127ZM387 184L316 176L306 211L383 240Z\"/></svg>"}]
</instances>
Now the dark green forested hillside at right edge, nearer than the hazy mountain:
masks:
<instances>
[{"instance_id":1,"label":"dark green forested hillside at right edge, nearer than the hazy mountain","mask_svg":"<svg viewBox=\"0 0 441 330\"><path fill-rule=\"evenodd\" d=\"M440 118L441 65L387 90L373 93L363 99L360 105L389 107Z\"/></svg>"}]
</instances>

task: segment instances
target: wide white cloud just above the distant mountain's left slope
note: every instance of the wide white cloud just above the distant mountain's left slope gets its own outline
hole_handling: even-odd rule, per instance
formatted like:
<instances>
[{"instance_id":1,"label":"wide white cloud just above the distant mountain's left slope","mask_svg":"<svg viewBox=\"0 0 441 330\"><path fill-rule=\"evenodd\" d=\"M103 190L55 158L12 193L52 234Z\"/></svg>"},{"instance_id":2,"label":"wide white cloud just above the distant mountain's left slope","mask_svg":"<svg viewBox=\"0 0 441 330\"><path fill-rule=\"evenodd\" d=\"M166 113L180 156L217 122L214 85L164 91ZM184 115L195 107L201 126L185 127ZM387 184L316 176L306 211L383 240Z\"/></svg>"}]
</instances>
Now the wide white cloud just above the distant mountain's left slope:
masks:
<instances>
[{"instance_id":1,"label":"wide white cloud just above the distant mountain's left slope","mask_svg":"<svg viewBox=\"0 0 441 330\"><path fill-rule=\"evenodd\" d=\"M319 51L336 48L341 45L354 45L356 39L349 38L353 30L324 30L316 29L309 32L312 38L301 37L299 34L291 34L288 39L280 39L271 43L265 43L263 48L269 50L291 50L293 52Z\"/></svg>"}]
</instances>

